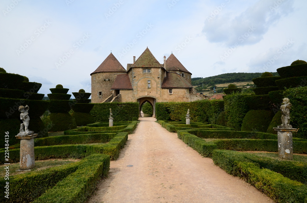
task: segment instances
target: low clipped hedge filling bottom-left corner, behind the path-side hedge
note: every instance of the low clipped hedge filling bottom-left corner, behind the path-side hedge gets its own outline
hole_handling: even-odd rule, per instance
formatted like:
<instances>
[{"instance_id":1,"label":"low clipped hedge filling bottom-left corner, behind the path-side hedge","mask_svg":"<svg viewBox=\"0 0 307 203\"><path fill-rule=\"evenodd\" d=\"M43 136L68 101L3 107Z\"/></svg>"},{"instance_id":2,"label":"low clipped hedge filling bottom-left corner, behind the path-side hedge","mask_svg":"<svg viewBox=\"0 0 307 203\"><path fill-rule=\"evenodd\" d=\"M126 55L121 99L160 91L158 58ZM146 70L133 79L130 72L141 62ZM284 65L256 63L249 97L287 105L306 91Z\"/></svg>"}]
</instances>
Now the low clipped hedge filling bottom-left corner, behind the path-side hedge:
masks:
<instances>
[{"instance_id":1,"label":"low clipped hedge filling bottom-left corner, behind the path-side hedge","mask_svg":"<svg viewBox=\"0 0 307 203\"><path fill-rule=\"evenodd\" d=\"M7 199L4 195L1 195L0 201L8 203L32 202L35 198L45 193L46 190L55 186L57 182L74 173L80 164L80 162L69 163L58 167L10 176L10 198ZM5 186L6 181L1 177L1 186Z\"/></svg>"}]
</instances>

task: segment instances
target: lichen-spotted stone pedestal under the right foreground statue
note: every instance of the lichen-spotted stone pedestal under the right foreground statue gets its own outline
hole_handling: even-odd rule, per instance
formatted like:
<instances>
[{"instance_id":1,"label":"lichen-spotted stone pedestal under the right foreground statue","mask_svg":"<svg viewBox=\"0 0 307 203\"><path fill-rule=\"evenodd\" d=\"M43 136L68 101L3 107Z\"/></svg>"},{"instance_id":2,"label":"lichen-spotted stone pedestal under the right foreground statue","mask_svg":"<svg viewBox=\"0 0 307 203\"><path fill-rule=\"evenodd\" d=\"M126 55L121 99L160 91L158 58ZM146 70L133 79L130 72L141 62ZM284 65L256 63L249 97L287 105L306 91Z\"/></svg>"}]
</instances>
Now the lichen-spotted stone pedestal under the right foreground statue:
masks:
<instances>
[{"instance_id":1,"label":"lichen-spotted stone pedestal under the right foreground statue","mask_svg":"<svg viewBox=\"0 0 307 203\"><path fill-rule=\"evenodd\" d=\"M282 128L280 128L282 127ZM278 157L283 159L293 159L293 142L292 132L296 131L296 128L285 128L284 126L278 126L273 128L277 131L278 136Z\"/></svg>"}]
</instances>

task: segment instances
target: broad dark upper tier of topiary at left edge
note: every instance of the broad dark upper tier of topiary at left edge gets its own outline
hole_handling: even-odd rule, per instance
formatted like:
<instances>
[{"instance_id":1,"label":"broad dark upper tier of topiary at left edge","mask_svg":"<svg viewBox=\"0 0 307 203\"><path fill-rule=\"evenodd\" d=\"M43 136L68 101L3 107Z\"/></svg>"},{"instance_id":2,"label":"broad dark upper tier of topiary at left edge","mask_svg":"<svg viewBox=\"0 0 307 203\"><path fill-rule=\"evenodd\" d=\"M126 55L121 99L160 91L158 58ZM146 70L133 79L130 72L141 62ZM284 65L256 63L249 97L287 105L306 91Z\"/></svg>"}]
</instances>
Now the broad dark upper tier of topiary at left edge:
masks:
<instances>
[{"instance_id":1,"label":"broad dark upper tier of topiary at left edge","mask_svg":"<svg viewBox=\"0 0 307 203\"><path fill-rule=\"evenodd\" d=\"M25 78L14 73L0 73L1 89L18 89Z\"/></svg>"}]
</instances>

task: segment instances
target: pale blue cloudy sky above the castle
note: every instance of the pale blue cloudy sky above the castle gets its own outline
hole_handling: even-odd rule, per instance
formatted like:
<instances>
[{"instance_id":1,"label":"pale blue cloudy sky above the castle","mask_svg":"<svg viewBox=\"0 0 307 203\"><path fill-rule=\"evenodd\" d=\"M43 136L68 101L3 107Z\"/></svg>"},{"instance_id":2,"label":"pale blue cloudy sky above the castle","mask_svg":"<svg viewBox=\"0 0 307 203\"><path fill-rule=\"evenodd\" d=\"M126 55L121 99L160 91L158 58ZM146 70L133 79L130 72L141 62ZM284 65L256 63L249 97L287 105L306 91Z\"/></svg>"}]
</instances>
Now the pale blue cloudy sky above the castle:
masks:
<instances>
[{"instance_id":1,"label":"pale blue cloudy sky above the castle","mask_svg":"<svg viewBox=\"0 0 307 203\"><path fill-rule=\"evenodd\" d=\"M0 10L0 67L41 94L91 92L111 52L126 68L146 47L160 63L173 52L192 78L307 60L306 0L1 0Z\"/></svg>"}]
</instances>

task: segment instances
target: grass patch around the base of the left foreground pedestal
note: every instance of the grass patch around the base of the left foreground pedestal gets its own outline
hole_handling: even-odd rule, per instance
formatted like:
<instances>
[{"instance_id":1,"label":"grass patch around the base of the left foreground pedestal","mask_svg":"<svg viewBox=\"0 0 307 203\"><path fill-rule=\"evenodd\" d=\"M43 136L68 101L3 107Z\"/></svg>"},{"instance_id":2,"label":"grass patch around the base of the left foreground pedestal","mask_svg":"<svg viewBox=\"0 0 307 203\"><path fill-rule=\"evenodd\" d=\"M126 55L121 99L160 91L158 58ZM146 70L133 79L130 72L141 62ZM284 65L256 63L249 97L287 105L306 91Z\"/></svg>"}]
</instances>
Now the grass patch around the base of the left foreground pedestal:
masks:
<instances>
[{"instance_id":1,"label":"grass patch around the base of the left foreground pedestal","mask_svg":"<svg viewBox=\"0 0 307 203\"><path fill-rule=\"evenodd\" d=\"M10 164L10 175L17 175L21 173L29 173L31 171L36 171L36 170L43 170L46 168L51 168L51 167L56 167L56 166L61 166L64 164L72 163L73 161L69 161L67 159L55 159L55 160L46 160L46 161L35 161L35 168L31 170L25 170L25 171L17 171L20 168L19 163L13 163ZM5 165L7 166L7 165ZM1 168L3 168L4 165L1 165ZM4 177L5 175L5 170L0 171L0 177Z\"/></svg>"}]
</instances>

